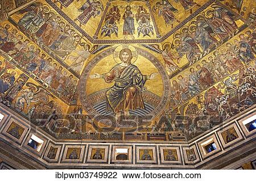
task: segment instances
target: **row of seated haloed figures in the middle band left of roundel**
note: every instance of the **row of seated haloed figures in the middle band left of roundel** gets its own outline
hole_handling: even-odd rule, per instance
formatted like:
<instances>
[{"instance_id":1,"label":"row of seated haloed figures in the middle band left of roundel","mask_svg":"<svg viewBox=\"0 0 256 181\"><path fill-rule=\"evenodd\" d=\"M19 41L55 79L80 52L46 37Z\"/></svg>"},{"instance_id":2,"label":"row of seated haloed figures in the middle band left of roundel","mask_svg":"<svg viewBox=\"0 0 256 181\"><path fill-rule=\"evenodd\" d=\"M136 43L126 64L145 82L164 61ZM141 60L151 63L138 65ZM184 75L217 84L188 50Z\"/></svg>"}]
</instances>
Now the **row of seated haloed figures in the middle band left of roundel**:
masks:
<instances>
[{"instance_id":1,"label":"row of seated haloed figures in the middle band left of roundel","mask_svg":"<svg viewBox=\"0 0 256 181\"><path fill-rule=\"evenodd\" d=\"M51 89L57 96L72 102L77 91L77 79L68 73L40 48L26 39L10 24L0 27L0 51L11 57L11 63L29 74L41 85ZM7 69L7 68L5 68ZM2 90L5 93L7 89Z\"/></svg>"}]
</instances>

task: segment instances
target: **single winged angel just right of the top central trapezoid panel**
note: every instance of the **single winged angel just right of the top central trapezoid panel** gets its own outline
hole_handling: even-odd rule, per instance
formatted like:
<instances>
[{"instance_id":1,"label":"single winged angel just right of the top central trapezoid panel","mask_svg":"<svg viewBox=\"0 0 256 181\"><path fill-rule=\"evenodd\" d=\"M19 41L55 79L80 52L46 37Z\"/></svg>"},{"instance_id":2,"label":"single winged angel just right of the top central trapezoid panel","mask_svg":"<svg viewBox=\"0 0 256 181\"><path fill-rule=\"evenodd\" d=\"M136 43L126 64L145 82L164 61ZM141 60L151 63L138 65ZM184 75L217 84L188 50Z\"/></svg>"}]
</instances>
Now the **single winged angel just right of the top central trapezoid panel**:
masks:
<instances>
[{"instance_id":1,"label":"single winged angel just right of the top central trapezoid panel","mask_svg":"<svg viewBox=\"0 0 256 181\"><path fill-rule=\"evenodd\" d=\"M177 21L180 23L179 20L175 18L174 13L179 12L179 10L175 9L174 6L167 0L157 1L152 8L153 12L158 10L158 15L163 16L164 21L166 22L166 26L171 25L173 28L173 23Z\"/></svg>"}]
</instances>

